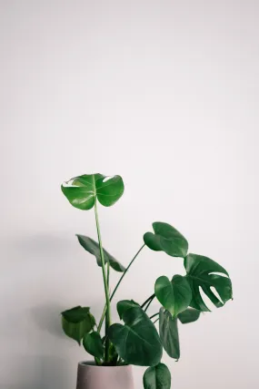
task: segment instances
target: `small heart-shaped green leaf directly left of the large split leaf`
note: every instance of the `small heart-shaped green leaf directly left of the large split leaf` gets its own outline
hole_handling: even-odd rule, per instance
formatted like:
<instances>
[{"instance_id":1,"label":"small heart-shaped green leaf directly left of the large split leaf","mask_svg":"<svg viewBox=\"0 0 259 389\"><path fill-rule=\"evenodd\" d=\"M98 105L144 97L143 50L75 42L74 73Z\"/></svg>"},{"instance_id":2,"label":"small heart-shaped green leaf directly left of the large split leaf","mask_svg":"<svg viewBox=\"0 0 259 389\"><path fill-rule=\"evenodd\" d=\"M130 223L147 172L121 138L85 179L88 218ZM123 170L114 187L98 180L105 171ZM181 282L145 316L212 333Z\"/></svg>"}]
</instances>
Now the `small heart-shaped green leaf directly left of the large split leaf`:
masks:
<instances>
[{"instance_id":1,"label":"small heart-shaped green leaf directly left of the large split leaf","mask_svg":"<svg viewBox=\"0 0 259 389\"><path fill-rule=\"evenodd\" d=\"M174 317L183 312L192 301L192 291L187 280L181 275L174 275L172 281L159 277L154 284L154 293L164 308Z\"/></svg>"}]
</instances>

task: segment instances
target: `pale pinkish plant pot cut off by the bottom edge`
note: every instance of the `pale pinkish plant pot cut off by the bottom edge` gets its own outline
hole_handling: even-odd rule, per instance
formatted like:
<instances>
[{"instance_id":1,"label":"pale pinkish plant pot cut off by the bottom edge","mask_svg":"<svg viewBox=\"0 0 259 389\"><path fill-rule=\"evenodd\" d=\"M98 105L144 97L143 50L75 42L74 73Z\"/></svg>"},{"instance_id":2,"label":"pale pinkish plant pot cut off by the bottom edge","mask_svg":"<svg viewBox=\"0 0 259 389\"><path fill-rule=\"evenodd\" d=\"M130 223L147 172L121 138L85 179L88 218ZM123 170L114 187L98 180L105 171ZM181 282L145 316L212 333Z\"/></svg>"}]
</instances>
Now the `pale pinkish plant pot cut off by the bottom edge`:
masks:
<instances>
[{"instance_id":1,"label":"pale pinkish plant pot cut off by the bottom edge","mask_svg":"<svg viewBox=\"0 0 259 389\"><path fill-rule=\"evenodd\" d=\"M134 389L132 366L78 363L76 389Z\"/></svg>"}]
</instances>

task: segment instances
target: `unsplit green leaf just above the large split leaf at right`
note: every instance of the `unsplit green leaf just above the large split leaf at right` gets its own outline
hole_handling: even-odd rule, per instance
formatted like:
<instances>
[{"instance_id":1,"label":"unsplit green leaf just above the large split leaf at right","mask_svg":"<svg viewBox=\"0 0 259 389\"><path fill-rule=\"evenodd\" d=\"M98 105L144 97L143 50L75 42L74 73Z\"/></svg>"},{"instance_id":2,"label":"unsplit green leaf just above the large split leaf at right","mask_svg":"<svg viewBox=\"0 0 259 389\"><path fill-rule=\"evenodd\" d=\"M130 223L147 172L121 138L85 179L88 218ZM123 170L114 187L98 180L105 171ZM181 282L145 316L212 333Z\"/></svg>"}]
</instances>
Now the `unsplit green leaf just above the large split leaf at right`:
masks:
<instances>
[{"instance_id":1,"label":"unsplit green leaf just above the large split leaf at right","mask_svg":"<svg viewBox=\"0 0 259 389\"><path fill-rule=\"evenodd\" d=\"M184 258L188 251L188 242L184 236L170 224L160 221L153 223L153 232L144 234L144 243L154 251L164 251L172 257Z\"/></svg>"}]
</instances>

